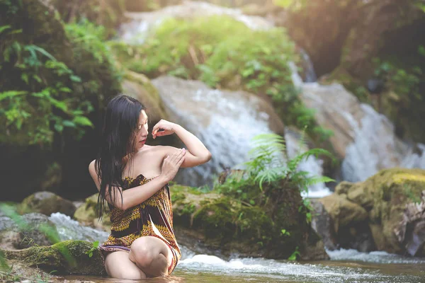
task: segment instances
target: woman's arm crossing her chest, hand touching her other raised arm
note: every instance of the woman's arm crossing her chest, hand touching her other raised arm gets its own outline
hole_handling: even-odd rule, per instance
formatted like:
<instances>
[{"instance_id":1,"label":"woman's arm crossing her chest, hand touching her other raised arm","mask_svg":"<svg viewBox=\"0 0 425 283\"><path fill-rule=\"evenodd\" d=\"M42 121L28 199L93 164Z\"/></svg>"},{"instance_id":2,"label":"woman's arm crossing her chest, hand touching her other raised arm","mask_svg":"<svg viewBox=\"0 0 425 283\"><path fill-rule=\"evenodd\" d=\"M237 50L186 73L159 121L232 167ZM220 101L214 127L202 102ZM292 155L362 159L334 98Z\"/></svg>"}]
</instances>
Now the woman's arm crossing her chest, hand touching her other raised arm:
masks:
<instances>
[{"instance_id":1,"label":"woman's arm crossing her chest, hand touching her other raised arm","mask_svg":"<svg viewBox=\"0 0 425 283\"><path fill-rule=\"evenodd\" d=\"M170 180L173 180L177 171L179 171L179 167L181 163L184 161L185 151L177 152L172 156L167 156L164 158L164 163L162 164L162 172L157 178L150 180L148 183L144 185L139 185L137 187L132 187L128 190L122 189L122 187L115 188L115 194L112 196L108 195L108 185L106 185L106 201L112 204L114 207L118 209L125 210L130 207L134 207L137 204L141 204L145 202L145 200L152 197L155 192L164 187L166 183L169 183ZM91 161L89 164L89 172L91 178L93 178L94 183L98 191L101 190L100 180L94 168L94 161ZM121 194L123 192L123 202L121 202Z\"/></svg>"}]
</instances>

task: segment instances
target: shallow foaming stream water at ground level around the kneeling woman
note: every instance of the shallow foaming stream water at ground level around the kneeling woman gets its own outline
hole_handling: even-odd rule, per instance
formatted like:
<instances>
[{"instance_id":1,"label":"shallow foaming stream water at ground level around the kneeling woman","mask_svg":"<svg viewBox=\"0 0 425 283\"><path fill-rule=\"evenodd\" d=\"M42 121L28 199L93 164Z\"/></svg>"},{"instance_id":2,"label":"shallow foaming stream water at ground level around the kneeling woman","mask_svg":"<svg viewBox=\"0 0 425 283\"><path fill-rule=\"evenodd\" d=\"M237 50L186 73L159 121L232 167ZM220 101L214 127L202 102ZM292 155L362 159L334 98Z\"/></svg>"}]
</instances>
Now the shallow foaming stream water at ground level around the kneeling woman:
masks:
<instances>
[{"instance_id":1,"label":"shallow foaming stream water at ground level around the kneeling woman","mask_svg":"<svg viewBox=\"0 0 425 283\"><path fill-rule=\"evenodd\" d=\"M54 213L50 220L57 225L61 240L103 242L108 233L80 226L69 216ZM179 241L179 239L177 239ZM357 250L328 251L331 260L290 262L264 258L223 260L214 255L200 255L181 246L182 258L172 276L143 282L425 282L425 259L405 258L385 252L360 253ZM66 276L66 279L92 282L119 282L116 279ZM124 281L123 281L124 282Z\"/></svg>"}]
</instances>

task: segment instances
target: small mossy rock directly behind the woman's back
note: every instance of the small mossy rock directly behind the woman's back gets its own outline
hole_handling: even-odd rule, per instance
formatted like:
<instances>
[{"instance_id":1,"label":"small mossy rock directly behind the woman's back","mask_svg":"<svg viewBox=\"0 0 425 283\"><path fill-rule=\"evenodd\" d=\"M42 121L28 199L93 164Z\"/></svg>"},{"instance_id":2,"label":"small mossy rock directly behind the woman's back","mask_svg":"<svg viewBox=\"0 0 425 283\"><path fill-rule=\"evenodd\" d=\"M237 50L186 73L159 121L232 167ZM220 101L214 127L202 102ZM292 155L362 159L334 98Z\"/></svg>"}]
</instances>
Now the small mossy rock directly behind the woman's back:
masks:
<instances>
[{"instance_id":1,"label":"small mossy rock directly behind the woman's back","mask_svg":"<svg viewBox=\"0 0 425 283\"><path fill-rule=\"evenodd\" d=\"M78 207L74 213L74 218L81 224L93 226L104 231L111 231L111 216L108 204L105 205L102 219L99 221L96 216L96 206L98 203L98 193L87 197L84 204Z\"/></svg>"}]
</instances>

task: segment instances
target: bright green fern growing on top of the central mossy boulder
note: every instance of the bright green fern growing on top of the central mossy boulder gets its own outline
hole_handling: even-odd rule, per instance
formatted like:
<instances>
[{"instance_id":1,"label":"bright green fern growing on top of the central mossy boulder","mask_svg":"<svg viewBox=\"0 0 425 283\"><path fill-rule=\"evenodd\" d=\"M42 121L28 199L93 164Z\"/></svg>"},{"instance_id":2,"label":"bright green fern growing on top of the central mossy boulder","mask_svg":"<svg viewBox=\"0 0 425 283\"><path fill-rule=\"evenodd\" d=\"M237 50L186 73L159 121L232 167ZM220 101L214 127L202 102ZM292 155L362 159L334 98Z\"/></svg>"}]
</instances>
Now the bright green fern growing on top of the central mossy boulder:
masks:
<instances>
[{"instance_id":1,"label":"bright green fern growing on top of the central mossy boulder","mask_svg":"<svg viewBox=\"0 0 425 283\"><path fill-rule=\"evenodd\" d=\"M271 190L285 190L285 187L294 185L300 192L307 192L311 185L334 182L326 176L312 176L308 172L298 171L300 163L310 156L329 156L335 160L324 149L301 152L305 146L304 133L300 138L299 151L293 158L286 154L285 139L278 134L258 134L252 141L254 148L249 151L250 160L242 163L244 170L234 171L223 184L215 183L215 190L249 206L264 204ZM268 191L265 191L265 185ZM298 211L305 214L307 223L312 219L311 210L310 201L302 200Z\"/></svg>"}]
</instances>

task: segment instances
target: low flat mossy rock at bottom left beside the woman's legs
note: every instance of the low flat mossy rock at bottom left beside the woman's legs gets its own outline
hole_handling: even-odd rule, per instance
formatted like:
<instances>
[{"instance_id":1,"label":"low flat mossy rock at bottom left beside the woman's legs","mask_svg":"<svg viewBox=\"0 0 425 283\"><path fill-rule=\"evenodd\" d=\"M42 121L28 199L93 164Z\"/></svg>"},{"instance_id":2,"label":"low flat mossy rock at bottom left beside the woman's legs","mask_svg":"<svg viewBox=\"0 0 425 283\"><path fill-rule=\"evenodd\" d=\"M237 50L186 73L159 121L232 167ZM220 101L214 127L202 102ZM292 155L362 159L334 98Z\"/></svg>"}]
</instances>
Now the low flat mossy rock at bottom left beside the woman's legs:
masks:
<instances>
[{"instance_id":1,"label":"low flat mossy rock at bottom left beside the woman's legs","mask_svg":"<svg viewBox=\"0 0 425 283\"><path fill-rule=\"evenodd\" d=\"M25 262L46 272L59 275L106 275L100 250L87 241L62 241L52 246L33 246L24 250L1 250L7 260Z\"/></svg>"}]
</instances>

